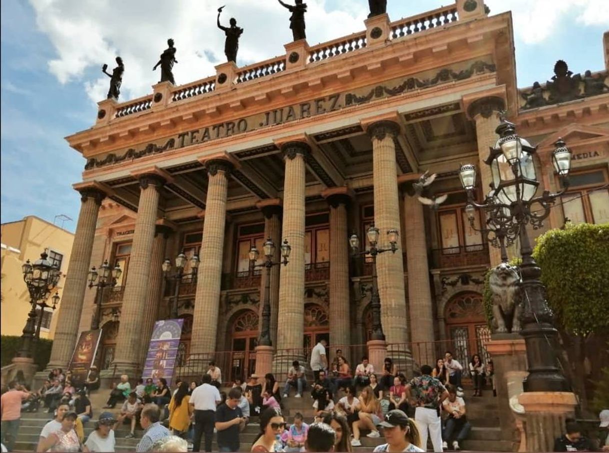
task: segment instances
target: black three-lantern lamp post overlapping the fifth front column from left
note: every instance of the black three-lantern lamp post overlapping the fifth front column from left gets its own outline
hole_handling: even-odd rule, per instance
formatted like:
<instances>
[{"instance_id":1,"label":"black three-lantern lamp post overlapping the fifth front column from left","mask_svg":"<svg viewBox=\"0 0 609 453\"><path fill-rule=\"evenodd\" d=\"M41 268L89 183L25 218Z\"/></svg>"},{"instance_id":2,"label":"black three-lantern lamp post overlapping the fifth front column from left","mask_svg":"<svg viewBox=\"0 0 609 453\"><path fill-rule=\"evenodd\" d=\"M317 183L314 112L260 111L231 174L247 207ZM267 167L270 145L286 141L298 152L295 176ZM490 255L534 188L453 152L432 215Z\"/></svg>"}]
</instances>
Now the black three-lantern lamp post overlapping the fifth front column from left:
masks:
<instances>
[{"instance_id":1,"label":"black three-lantern lamp post overlapping the fifth front column from left","mask_svg":"<svg viewBox=\"0 0 609 453\"><path fill-rule=\"evenodd\" d=\"M370 226L366 232L370 249L359 251L359 238L355 233L349 238L349 244L354 255L370 255L372 257L372 297L370 300L370 308L372 309L372 335L371 340L385 341L385 334L382 331L381 323L381 298L379 297L378 281L376 277L376 255L385 252L395 253L398 250L398 230L395 228L387 230L389 238L389 249L381 249L376 246L379 238L379 229L375 226Z\"/></svg>"}]
</instances>

